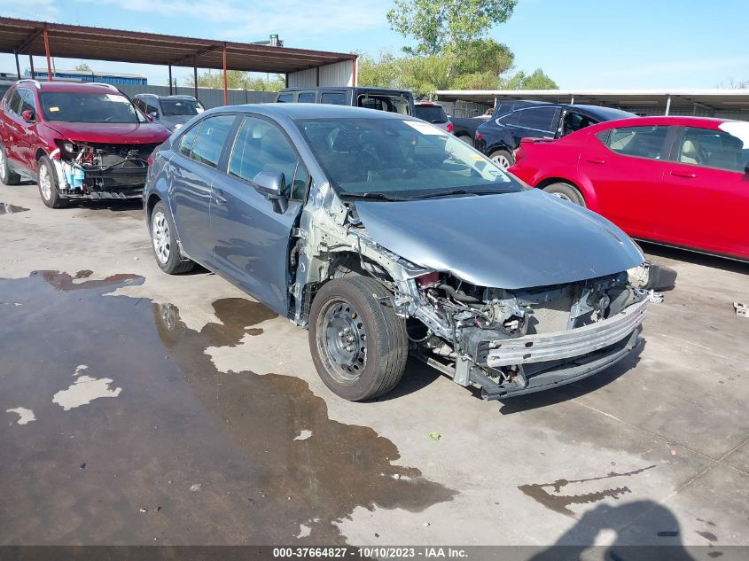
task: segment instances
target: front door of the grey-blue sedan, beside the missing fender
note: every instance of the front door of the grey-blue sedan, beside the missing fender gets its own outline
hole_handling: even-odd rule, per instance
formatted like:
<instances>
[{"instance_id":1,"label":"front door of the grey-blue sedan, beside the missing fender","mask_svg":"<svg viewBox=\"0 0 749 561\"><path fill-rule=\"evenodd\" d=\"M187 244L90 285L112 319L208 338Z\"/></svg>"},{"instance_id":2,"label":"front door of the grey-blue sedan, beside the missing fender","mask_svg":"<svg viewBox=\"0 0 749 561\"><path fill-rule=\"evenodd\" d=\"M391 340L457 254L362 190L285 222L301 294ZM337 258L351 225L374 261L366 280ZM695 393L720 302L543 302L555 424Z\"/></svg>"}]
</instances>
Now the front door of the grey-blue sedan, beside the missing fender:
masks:
<instances>
[{"instance_id":1,"label":"front door of the grey-blue sedan, beside the missing fender","mask_svg":"<svg viewBox=\"0 0 749 561\"><path fill-rule=\"evenodd\" d=\"M255 190L261 171L283 172L288 207L276 213ZM211 202L216 270L282 316L288 309L289 242L307 194L309 175L293 144L275 123L246 115L226 173L217 175Z\"/></svg>"}]
</instances>

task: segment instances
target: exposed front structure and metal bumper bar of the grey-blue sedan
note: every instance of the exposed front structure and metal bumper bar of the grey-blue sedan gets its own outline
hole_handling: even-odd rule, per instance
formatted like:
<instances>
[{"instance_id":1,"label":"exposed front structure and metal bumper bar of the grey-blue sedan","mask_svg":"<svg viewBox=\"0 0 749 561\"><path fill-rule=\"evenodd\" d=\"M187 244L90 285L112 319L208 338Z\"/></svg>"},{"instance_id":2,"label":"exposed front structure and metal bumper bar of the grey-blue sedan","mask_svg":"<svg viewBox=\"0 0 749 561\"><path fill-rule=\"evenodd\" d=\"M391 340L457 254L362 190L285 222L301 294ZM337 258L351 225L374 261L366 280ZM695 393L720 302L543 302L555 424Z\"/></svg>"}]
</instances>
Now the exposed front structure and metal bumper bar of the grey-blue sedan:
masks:
<instances>
[{"instance_id":1,"label":"exposed front structure and metal bumper bar of the grey-blue sedan","mask_svg":"<svg viewBox=\"0 0 749 561\"><path fill-rule=\"evenodd\" d=\"M290 248L294 323L307 325L309 302L327 280L375 277L393 293L383 305L406 322L411 355L461 386L480 387L485 399L586 378L641 342L648 291L626 270L524 289L479 286L378 245L355 203L328 185L313 202Z\"/></svg>"}]
</instances>

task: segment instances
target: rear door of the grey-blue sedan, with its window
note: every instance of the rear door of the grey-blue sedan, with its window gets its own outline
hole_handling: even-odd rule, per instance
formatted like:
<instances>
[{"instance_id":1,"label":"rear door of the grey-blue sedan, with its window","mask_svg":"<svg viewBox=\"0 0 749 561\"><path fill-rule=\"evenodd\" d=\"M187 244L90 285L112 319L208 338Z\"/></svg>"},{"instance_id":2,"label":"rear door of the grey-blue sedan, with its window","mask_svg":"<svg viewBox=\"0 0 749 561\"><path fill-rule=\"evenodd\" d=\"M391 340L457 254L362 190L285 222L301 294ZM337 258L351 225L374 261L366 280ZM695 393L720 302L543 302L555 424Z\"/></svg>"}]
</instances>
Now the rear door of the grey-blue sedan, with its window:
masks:
<instances>
[{"instance_id":1,"label":"rear door of the grey-blue sedan, with its window","mask_svg":"<svg viewBox=\"0 0 749 561\"><path fill-rule=\"evenodd\" d=\"M169 202L177 233L185 253L204 265L213 263L211 183L235 120L234 114L222 114L199 121L178 139L169 162Z\"/></svg>"}]
</instances>

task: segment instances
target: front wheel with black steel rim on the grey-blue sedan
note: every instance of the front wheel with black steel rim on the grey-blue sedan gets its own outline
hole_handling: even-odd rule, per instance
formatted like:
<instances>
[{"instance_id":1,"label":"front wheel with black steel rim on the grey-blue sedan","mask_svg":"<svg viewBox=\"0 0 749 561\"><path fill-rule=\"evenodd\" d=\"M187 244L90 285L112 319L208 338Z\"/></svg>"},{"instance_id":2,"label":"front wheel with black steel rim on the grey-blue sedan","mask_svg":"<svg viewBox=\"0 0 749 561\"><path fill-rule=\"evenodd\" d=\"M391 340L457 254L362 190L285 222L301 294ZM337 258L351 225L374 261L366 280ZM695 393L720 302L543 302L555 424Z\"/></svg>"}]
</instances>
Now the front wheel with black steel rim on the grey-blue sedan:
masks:
<instances>
[{"instance_id":1,"label":"front wheel with black steel rim on the grey-blue sedan","mask_svg":"<svg viewBox=\"0 0 749 561\"><path fill-rule=\"evenodd\" d=\"M378 397L401 381L409 355L406 322L378 300L391 296L373 278L353 275L324 284L312 301L312 361L325 386L346 400Z\"/></svg>"}]
</instances>

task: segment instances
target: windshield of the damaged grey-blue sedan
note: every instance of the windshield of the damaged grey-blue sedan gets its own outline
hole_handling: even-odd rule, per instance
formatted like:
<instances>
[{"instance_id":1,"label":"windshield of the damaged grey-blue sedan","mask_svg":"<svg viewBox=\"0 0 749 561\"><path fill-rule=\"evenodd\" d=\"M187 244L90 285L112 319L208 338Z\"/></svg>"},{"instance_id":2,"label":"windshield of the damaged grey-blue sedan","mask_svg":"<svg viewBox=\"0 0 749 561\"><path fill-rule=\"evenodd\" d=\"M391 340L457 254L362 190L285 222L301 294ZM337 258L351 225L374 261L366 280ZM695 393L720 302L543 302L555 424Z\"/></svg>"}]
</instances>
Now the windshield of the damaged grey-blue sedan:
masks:
<instances>
[{"instance_id":1,"label":"windshield of the damaged grey-blue sedan","mask_svg":"<svg viewBox=\"0 0 749 561\"><path fill-rule=\"evenodd\" d=\"M422 121L297 121L339 194L387 199L522 191L491 160Z\"/></svg>"}]
</instances>

